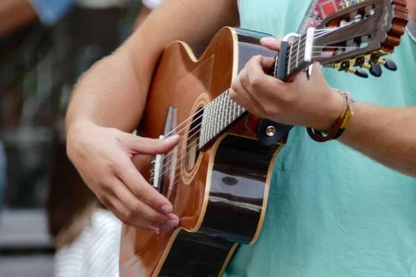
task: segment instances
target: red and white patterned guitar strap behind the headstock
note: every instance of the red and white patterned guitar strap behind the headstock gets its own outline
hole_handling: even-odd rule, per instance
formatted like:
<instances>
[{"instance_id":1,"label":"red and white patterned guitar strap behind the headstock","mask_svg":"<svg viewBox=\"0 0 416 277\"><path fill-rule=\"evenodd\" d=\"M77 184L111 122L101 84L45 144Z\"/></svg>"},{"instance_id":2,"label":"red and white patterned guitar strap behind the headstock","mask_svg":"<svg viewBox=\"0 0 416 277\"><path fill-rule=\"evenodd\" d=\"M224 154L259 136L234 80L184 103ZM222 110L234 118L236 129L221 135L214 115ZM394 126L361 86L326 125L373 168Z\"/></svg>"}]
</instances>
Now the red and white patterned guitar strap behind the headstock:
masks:
<instances>
[{"instance_id":1,"label":"red and white patterned guitar strap behind the headstock","mask_svg":"<svg viewBox=\"0 0 416 277\"><path fill-rule=\"evenodd\" d=\"M308 28L318 26L332 12L357 2L358 0L312 0L297 33L303 34Z\"/></svg>"}]
</instances>

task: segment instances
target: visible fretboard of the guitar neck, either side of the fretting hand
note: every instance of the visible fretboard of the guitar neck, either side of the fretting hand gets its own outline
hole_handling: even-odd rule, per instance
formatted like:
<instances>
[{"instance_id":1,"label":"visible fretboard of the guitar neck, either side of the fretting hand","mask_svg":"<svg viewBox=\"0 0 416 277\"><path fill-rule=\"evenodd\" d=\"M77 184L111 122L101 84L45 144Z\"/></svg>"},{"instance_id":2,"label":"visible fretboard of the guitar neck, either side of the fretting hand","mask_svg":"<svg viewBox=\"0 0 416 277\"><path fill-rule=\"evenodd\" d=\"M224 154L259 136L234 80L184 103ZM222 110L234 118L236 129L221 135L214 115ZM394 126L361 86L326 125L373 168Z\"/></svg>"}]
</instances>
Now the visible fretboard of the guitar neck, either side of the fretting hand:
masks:
<instances>
[{"instance_id":1,"label":"visible fretboard of the guitar neck, either side of the fretting hand","mask_svg":"<svg viewBox=\"0 0 416 277\"><path fill-rule=\"evenodd\" d=\"M286 57L286 76L291 75L295 71L304 66L305 62L305 44L306 33L300 37L293 39L288 46L288 55ZM275 65L270 71L270 75L275 76L275 68L279 60L279 55L275 56ZM199 148L204 148L211 140L232 127L248 111L237 105L229 98L229 89L209 102L204 108L202 116L202 124L200 125L200 141Z\"/></svg>"}]
</instances>

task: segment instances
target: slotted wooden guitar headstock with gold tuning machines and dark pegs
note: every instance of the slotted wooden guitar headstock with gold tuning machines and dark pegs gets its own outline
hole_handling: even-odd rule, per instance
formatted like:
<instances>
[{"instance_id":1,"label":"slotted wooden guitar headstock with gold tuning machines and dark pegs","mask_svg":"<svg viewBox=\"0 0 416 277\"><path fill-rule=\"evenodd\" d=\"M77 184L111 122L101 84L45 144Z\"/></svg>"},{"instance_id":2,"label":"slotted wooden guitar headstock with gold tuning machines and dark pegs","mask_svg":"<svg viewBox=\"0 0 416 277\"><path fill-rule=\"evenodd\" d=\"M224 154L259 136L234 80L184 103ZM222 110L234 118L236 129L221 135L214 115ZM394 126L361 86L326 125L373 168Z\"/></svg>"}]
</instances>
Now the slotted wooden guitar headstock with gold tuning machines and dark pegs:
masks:
<instances>
[{"instance_id":1,"label":"slotted wooden guitar headstock with gold tuning machines and dark pegs","mask_svg":"<svg viewBox=\"0 0 416 277\"><path fill-rule=\"evenodd\" d=\"M365 0L328 15L316 28L306 32L305 62L320 62L338 71L367 77L381 75L383 64L396 70L383 55L394 52L408 22L406 0Z\"/></svg>"}]
</instances>

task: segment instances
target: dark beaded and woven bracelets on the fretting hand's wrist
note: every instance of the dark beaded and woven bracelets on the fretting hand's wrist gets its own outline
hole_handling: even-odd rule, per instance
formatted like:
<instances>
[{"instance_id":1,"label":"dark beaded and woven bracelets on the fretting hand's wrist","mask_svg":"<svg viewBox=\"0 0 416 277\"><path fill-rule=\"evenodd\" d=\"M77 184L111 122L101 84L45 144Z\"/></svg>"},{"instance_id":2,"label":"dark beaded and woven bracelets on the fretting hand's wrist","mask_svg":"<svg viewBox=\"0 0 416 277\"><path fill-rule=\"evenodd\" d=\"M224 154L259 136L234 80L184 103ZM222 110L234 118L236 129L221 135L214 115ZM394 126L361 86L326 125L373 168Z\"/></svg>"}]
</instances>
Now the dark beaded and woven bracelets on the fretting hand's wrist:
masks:
<instances>
[{"instance_id":1,"label":"dark beaded and woven bracelets on the fretting hand's wrist","mask_svg":"<svg viewBox=\"0 0 416 277\"><path fill-rule=\"evenodd\" d=\"M317 141L318 143L323 143L325 141L331 141L333 139L338 139L341 134L345 131L349 120L354 115L354 111L352 110L352 100L351 96L348 92L341 92L339 89L333 89L337 93L342 94L345 97L345 105L343 108L343 112L341 113L340 117L336 120L335 125L333 125L331 131L324 136L322 132L319 132L311 127L306 127L306 131L308 132L311 139Z\"/></svg>"}]
</instances>

